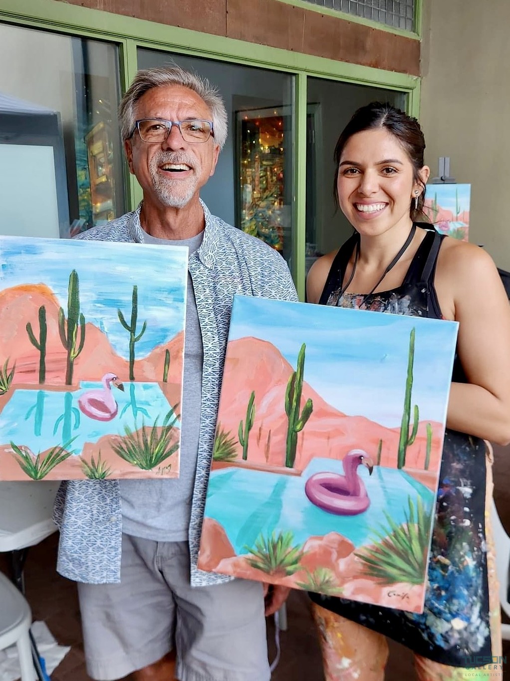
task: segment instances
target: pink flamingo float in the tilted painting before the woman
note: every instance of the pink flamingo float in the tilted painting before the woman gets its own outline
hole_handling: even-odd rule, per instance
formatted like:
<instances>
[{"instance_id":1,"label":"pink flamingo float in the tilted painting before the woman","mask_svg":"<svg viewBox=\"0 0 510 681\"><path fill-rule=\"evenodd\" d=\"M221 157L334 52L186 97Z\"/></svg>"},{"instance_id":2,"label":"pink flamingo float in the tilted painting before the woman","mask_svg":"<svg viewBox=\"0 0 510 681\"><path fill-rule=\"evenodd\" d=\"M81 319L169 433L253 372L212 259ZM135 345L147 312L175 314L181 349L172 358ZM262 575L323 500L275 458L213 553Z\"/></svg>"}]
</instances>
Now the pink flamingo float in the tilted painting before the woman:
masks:
<instances>
[{"instance_id":1,"label":"pink flamingo float in the tilted painting before the woman","mask_svg":"<svg viewBox=\"0 0 510 681\"><path fill-rule=\"evenodd\" d=\"M370 499L359 477L358 466L367 466L370 475L373 471L373 460L363 449L351 449L343 457L343 472L315 473L305 484L305 494L319 508L338 516L355 516L366 511Z\"/></svg>"}]
</instances>

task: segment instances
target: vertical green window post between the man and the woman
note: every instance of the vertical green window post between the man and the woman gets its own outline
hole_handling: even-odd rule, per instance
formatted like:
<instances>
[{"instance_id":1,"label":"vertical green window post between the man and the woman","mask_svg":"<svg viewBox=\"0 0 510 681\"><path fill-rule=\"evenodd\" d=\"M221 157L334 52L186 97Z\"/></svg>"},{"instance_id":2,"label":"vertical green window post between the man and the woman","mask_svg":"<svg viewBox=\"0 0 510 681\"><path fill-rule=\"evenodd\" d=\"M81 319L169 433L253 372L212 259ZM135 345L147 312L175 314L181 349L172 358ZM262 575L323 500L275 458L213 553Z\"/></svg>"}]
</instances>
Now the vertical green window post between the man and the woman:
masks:
<instances>
[{"instance_id":1,"label":"vertical green window post between the man and the woman","mask_svg":"<svg viewBox=\"0 0 510 681\"><path fill-rule=\"evenodd\" d=\"M299 300L305 300L305 242L307 195L307 76L294 79L294 208L292 210L292 276Z\"/></svg>"}]
</instances>

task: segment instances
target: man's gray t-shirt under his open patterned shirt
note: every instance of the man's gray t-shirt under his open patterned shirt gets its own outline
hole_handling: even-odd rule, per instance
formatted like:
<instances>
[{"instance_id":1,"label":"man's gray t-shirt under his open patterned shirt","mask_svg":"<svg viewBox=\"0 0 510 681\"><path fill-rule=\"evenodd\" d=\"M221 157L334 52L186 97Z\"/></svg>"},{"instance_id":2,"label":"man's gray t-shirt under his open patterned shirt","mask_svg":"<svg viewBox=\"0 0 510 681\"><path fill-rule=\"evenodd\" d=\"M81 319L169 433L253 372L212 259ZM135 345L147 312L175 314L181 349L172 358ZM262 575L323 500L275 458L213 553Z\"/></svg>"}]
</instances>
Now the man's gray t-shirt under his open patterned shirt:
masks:
<instances>
[{"instance_id":1,"label":"man's gray t-shirt under his open patterned shirt","mask_svg":"<svg viewBox=\"0 0 510 681\"><path fill-rule=\"evenodd\" d=\"M149 234L144 234L143 238L148 244L187 246L191 255L200 248L203 232L184 240L157 239ZM188 539L190 524L199 452L203 344L189 272L187 295L179 477L165 480L120 480L122 531L155 541L185 541Z\"/></svg>"}]
</instances>

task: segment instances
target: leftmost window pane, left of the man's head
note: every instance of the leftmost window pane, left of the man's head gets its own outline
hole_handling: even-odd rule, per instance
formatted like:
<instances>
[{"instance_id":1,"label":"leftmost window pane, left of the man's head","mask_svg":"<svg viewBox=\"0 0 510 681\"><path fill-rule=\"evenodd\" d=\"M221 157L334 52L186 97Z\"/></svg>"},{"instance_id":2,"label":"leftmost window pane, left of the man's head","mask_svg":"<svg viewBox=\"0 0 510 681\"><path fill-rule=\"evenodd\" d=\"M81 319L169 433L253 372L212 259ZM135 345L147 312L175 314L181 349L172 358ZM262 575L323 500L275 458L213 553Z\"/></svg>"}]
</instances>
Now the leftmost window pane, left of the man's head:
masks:
<instances>
[{"instance_id":1,"label":"leftmost window pane, left of the man's head","mask_svg":"<svg viewBox=\"0 0 510 681\"><path fill-rule=\"evenodd\" d=\"M117 60L108 43L0 25L1 234L69 237L122 215Z\"/></svg>"}]
</instances>

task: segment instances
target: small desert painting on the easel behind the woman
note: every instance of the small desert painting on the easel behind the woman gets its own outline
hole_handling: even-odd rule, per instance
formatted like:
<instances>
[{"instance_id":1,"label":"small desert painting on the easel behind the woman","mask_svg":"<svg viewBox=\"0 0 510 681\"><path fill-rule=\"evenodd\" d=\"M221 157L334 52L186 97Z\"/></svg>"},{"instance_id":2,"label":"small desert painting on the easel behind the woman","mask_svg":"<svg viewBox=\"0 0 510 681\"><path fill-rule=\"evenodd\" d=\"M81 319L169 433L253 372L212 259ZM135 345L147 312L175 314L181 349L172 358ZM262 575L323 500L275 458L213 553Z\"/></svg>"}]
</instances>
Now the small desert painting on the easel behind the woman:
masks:
<instances>
[{"instance_id":1,"label":"small desert painting on the easel behind the woman","mask_svg":"<svg viewBox=\"0 0 510 681\"><path fill-rule=\"evenodd\" d=\"M440 234L469 237L471 185L426 185L424 213Z\"/></svg>"}]
</instances>

